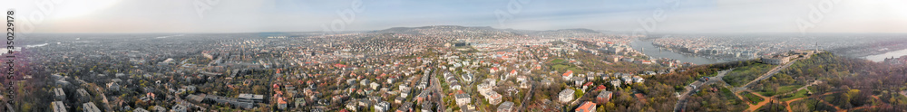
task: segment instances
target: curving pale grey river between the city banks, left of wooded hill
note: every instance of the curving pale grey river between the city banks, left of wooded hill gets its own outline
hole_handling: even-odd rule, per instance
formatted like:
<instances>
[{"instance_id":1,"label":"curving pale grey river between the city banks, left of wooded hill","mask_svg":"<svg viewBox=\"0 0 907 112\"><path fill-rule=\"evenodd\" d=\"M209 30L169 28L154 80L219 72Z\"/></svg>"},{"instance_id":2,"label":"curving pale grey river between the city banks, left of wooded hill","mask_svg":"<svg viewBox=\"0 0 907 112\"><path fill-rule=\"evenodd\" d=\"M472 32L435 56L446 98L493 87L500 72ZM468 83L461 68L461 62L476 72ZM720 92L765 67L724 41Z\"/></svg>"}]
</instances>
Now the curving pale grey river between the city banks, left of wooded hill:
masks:
<instances>
[{"instance_id":1,"label":"curving pale grey river between the city banks, left of wooded hill","mask_svg":"<svg viewBox=\"0 0 907 112\"><path fill-rule=\"evenodd\" d=\"M630 42L630 47L632 47L633 50L642 51L642 53L645 53L646 55L648 55L649 57L652 57L653 59L668 58L668 59L675 59L675 60L678 60L681 62L690 62L690 63L694 63L697 65L725 62L725 61L720 61L720 60L716 60L716 59L697 57L697 56L689 55L689 54L680 54L680 53L674 52L674 51L660 50L660 49L658 49L658 46L655 46L654 44L652 44L652 42L641 41L639 39L634 39L633 42Z\"/></svg>"}]
</instances>

